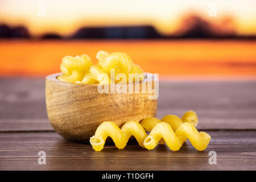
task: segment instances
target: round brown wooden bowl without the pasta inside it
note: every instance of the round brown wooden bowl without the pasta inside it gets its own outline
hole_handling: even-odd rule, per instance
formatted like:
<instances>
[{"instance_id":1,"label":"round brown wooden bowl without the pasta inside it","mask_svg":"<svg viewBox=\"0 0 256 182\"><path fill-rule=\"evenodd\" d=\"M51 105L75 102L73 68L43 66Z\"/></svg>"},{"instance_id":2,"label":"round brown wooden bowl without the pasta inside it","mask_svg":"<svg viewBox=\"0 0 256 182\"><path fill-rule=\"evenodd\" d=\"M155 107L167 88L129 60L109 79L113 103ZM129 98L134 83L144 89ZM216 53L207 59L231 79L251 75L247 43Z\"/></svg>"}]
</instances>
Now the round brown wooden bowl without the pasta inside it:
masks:
<instances>
[{"instance_id":1,"label":"round brown wooden bowl without the pasta inside it","mask_svg":"<svg viewBox=\"0 0 256 182\"><path fill-rule=\"evenodd\" d=\"M151 73L145 73L142 84L152 84ZM112 121L121 127L127 121L140 122L144 118L155 117L157 99L148 96L154 93L99 93L98 84L76 84L57 80L56 73L46 77L46 108L53 129L62 137L89 142L104 121ZM152 74L151 74L152 75ZM117 88L117 85L115 85Z\"/></svg>"}]
</instances>

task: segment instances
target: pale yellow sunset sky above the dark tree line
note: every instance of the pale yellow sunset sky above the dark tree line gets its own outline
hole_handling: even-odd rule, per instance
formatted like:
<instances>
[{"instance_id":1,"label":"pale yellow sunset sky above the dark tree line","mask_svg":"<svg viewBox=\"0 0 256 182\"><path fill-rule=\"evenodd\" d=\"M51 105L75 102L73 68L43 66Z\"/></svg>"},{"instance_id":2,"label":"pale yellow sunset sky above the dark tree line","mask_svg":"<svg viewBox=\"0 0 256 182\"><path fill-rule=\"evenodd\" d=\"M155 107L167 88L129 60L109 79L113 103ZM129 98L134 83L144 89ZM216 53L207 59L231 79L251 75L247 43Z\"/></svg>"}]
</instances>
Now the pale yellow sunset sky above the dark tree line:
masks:
<instances>
[{"instance_id":1,"label":"pale yellow sunset sky above the dark tree line","mask_svg":"<svg viewBox=\"0 0 256 182\"><path fill-rule=\"evenodd\" d=\"M46 5L46 16L38 16L39 5ZM208 15L209 4L217 6L217 16ZM0 0L0 23L25 25L33 35L56 32L69 35L81 26L150 24L163 34L174 32L180 20L197 13L212 22L231 16L238 34L256 34L256 1L61 1Z\"/></svg>"}]
</instances>

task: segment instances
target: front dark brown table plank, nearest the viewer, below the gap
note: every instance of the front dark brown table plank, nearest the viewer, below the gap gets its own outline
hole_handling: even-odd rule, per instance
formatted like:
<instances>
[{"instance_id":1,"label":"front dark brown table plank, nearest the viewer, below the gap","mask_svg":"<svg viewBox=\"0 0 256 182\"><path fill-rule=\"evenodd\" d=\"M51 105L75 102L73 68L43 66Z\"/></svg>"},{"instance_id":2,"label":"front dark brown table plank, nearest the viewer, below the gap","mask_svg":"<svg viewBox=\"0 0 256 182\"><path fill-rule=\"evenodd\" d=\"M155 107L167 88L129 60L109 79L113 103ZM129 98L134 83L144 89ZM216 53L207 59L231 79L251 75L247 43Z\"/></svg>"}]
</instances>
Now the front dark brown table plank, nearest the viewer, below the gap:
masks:
<instances>
[{"instance_id":1,"label":"front dark brown table plank, nearest the viewer, below the gap","mask_svg":"<svg viewBox=\"0 0 256 182\"><path fill-rule=\"evenodd\" d=\"M212 140L203 152L188 141L177 152L164 145L148 151L134 142L95 152L56 133L0 133L0 170L255 170L256 131L207 132ZM46 152L46 165L38 164L39 151ZM216 165L208 163L209 151L217 152Z\"/></svg>"}]
</instances>

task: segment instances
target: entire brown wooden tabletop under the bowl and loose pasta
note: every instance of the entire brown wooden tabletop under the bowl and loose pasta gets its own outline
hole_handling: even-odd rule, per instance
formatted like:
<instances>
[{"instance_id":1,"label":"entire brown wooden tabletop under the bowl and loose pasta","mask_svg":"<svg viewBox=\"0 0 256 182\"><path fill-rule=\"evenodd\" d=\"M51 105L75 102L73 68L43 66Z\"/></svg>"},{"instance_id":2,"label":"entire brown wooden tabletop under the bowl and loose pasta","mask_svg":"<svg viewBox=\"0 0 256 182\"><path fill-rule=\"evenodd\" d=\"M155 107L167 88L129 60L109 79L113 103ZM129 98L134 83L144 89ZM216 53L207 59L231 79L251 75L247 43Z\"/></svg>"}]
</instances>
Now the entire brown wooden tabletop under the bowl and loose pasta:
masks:
<instances>
[{"instance_id":1,"label":"entire brown wooden tabletop under the bowl and loose pasta","mask_svg":"<svg viewBox=\"0 0 256 182\"><path fill-rule=\"evenodd\" d=\"M43 78L0 78L0 170L255 170L256 81L162 81L158 118L194 110L197 129L212 137L199 152L189 141L177 152L146 150L134 141L123 150L108 144L95 152L52 129ZM46 152L46 165L38 152ZM217 164L209 164L216 151Z\"/></svg>"}]
</instances>

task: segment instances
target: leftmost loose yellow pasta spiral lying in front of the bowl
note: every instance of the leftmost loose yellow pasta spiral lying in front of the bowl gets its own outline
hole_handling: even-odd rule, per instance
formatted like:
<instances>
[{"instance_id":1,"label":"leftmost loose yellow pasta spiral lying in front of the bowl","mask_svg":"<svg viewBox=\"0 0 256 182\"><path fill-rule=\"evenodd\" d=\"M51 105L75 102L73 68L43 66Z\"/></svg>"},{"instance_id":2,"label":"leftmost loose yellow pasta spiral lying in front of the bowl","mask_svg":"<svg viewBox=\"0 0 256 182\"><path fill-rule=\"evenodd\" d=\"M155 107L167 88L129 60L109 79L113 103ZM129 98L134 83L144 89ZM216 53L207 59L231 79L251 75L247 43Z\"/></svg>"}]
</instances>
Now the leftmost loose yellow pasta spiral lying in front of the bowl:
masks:
<instances>
[{"instance_id":1,"label":"leftmost loose yellow pasta spiral lying in front of the bowl","mask_svg":"<svg viewBox=\"0 0 256 182\"><path fill-rule=\"evenodd\" d=\"M103 122L98 126L96 133L90 138L90 144L95 151L101 151L107 137L111 137L115 146L119 149L125 148L131 136L134 136L139 146L143 146L143 141L147 137L143 127L135 121L126 122L121 129L113 122Z\"/></svg>"}]
</instances>

